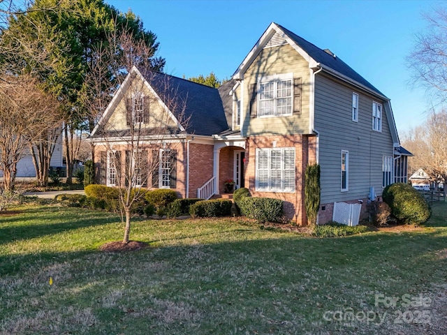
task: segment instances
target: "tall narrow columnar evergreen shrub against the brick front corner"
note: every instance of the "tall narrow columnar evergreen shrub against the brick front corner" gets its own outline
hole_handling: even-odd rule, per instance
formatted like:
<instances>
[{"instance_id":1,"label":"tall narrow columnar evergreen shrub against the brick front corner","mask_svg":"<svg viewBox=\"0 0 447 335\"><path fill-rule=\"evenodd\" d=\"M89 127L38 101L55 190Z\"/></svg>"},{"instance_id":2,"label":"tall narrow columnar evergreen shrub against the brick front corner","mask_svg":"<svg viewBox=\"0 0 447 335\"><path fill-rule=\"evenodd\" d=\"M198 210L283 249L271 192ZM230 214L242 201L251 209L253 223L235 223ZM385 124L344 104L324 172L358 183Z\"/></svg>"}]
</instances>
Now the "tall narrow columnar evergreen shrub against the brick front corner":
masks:
<instances>
[{"instance_id":1,"label":"tall narrow columnar evergreen shrub against the brick front corner","mask_svg":"<svg viewBox=\"0 0 447 335\"><path fill-rule=\"evenodd\" d=\"M309 225L316 225L320 209L320 165L308 165L305 174L305 207Z\"/></svg>"}]
</instances>

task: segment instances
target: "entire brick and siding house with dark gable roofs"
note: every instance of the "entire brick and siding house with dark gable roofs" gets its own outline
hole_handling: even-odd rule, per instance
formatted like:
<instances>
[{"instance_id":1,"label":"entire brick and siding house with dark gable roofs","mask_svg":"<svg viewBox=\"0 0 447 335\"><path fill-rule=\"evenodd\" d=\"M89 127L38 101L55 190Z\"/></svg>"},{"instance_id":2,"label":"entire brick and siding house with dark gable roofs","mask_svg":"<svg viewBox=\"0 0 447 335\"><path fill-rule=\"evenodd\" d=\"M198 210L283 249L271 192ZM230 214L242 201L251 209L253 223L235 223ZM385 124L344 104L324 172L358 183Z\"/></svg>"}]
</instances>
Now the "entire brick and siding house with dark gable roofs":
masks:
<instances>
[{"instance_id":1,"label":"entire brick and siding house with dark gable roofs","mask_svg":"<svg viewBox=\"0 0 447 335\"><path fill-rule=\"evenodd\" d=\"M276 23L219 89L134 67L91 133L98 183L117 185L135 159L135 124L140 163L126 166L141 186L211 198L233 179L254 196L284 200L284 214L300 225L307 165L321 166L324 223L334 202L365 210L385 186L406 182L411 156L389 98L330 50Z\"/></svg>"}]
</instances>

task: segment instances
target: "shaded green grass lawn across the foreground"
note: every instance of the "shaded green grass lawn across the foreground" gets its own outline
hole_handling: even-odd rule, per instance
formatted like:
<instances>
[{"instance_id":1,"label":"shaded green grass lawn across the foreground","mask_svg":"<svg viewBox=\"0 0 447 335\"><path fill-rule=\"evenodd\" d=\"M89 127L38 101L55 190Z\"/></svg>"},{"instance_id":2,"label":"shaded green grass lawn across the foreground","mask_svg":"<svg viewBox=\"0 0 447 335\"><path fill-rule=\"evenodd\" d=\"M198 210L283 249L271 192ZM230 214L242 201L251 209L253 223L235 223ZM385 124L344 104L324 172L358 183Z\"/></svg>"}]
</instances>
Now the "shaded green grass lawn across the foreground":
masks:
<instances>
[{"instance_id":1,"label":"shaded green grass lawn across the foreground","mask_svg":"<svg viewBox=\"0 0 447 335\"><path fill-rule=\"evenodd\" d=\"M0 216L0 334L447 334L447 204L423 228L317 239L238 218ZM52 285L50 285L50 277Z\"/></svg>"}]
</instances>

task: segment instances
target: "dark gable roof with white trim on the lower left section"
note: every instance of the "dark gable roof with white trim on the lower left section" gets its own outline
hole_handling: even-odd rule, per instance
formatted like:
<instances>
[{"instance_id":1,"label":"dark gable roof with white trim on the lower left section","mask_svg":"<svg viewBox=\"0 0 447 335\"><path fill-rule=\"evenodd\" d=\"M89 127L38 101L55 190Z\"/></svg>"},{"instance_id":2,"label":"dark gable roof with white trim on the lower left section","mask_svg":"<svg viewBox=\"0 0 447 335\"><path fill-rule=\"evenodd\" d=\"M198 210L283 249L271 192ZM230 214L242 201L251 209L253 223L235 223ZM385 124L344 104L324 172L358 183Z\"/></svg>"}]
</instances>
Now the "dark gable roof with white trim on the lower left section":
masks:
<instances>
[{"instance_id":1,"label":"dark gable roof with white trim on the lower left section","mask_svg":"<svg viewBox=\"0 0 447 335\"><path fill-rule=\"evenodd\" d=\"M147 88L156 95L156 98L177 124L179 128L177 132L179 130L189 134L210 136L228 129L217 89L165 73L151 70L140 71L134 66L110 101L90 137L101 135L98 133L100 125L110 118L121 98L125 96L125 91L129 87L130 78L133 75L140 76L145 81ZM186 125L183 124L183 121L186 122ZM171 131L171 133L173 132Z\"/></svg>"}]
</instances>

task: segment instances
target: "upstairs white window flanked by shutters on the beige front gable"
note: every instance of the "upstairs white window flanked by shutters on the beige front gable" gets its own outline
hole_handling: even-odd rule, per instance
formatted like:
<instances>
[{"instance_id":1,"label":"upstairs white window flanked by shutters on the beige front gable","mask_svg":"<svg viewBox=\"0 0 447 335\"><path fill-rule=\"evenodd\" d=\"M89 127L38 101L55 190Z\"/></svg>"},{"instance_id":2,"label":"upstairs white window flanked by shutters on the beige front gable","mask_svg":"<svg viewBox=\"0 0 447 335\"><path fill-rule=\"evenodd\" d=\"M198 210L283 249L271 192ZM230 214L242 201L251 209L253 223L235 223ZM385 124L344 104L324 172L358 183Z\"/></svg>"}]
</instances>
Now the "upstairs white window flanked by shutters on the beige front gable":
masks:
<instances>
[{"instance_id":1,"label":"upstairs white window flanked by shutters on the beige front gable","mask_svg":"<svg viewBox=\"0 0 447 335\"><path fill-rule=\"evenodd\" d=\"M286 116L293 113L291 74L262 78L258 84L258 117Z\"/></svg>"}]
</instances>

